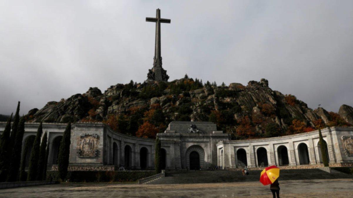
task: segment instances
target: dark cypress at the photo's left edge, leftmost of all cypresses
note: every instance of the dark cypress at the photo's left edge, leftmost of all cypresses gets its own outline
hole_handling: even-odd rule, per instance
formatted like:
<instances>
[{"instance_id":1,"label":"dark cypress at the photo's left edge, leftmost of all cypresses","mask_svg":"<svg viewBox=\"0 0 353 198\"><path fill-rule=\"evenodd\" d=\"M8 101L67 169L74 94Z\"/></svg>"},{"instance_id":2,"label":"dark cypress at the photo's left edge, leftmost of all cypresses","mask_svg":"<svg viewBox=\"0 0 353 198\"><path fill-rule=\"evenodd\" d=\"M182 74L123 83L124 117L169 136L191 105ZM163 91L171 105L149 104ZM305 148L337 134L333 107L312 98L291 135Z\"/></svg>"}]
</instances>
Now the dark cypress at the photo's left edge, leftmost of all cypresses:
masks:
<instances>
[{"instance_id":1,"label":"dark cypress at the photo's left edge, leftmost of all cypresses","mask_svg":"<svg viewBox=\"0 0 353 198\"><path fill-rule=\"evenodd\" d=\"M11 119L12 113L10 118L8 118L5 130L1 135L0 138L0 182L6 181L8 167L9 164L9 157L11 156L11 149L10 149L10 132L11 132Z\"/></svg>"}]
</instances>

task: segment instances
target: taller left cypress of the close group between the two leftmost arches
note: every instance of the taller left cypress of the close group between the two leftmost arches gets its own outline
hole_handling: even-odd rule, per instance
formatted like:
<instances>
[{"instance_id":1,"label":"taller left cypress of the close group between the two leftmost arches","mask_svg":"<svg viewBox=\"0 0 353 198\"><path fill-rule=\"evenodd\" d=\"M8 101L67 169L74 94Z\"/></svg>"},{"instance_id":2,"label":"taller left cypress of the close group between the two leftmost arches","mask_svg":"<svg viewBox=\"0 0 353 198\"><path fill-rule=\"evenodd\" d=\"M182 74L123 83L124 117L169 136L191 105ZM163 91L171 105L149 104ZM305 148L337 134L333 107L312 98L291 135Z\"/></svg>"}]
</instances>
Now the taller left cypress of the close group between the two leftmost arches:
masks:
<instances>
[{"instance_id":1,"label":"taller left cypress of the close group between the two leftmost arches","mask_svg":"<svg viewBox=\"0 0 353 198\"><path fill-rule=\"evenodd\" d=\"M38 160L39 160L39 152L40 152L39 149L40 149L42 133L43 133L43 126L42 126L42 123L40 123L37 130L36 138L34 139L31 156L29 157L27 181L34 181L37 179Z\"/></svg>"}]
</instances>

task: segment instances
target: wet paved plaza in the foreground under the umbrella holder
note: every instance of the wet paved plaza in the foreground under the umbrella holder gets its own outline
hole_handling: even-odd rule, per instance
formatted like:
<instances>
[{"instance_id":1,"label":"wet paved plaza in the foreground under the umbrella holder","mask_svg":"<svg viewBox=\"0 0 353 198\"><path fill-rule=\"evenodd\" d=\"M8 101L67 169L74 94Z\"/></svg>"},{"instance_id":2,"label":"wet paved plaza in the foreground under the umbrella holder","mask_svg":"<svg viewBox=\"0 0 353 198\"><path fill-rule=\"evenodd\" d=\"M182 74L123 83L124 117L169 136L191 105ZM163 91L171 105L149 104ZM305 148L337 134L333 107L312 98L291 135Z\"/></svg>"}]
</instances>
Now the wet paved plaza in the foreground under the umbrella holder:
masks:
<instances>
[{"instance_id":1,"label":"wet paved plaza in the foreground under the umbrella holder","mask_svg":"<svg viewBox=\"0 0 353 198\"><path fill-rule=\"evenodd\" d=\"M280 181L281 197L353 197L352 179ZM0 197L272 197L260 182L139 185L71 183L0 190Z\"/></svg>"}]
</instances>

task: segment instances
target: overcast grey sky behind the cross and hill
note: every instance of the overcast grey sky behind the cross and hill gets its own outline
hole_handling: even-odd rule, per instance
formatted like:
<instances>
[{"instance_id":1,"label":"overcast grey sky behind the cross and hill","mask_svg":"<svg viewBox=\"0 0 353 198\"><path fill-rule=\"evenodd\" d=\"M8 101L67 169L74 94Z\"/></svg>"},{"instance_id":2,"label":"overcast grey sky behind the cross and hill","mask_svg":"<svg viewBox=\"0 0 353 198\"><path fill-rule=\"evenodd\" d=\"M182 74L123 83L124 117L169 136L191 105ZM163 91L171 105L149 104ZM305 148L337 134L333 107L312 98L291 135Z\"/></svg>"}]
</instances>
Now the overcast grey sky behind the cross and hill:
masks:
<instances>
[{"instance_id":1,"label":"overcast grey sky behind the cross and hill","mask_svg":"<svg viewBox=\"0 0 353 198\"><path fill-rule=\"evenodd\" d=\"M0 114L146 80L161 25L169 80L268 79L309 107L353 106L353 1L0 1Z\"/></svg>"}]
</instances>

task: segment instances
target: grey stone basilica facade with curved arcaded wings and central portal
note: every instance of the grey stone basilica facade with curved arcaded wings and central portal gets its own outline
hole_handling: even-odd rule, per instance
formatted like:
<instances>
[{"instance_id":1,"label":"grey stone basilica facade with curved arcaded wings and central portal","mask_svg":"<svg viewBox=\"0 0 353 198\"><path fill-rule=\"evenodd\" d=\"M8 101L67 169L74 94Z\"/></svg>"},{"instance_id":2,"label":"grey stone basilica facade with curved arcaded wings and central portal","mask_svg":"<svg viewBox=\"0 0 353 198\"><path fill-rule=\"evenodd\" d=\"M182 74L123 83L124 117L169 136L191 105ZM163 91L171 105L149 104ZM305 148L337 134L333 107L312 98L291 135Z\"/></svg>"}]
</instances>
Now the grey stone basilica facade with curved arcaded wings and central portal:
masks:
<instances>
[{"instance_id":1,"label":"grey stone basilica facade with curved arcaded wings and central portal","mask_svg":"<svg viewBox=\"0 0 353 198\"><path fill-rule=\"evenodd\" d=\"M0 123L0 131L5 128ZM24 143L36 135L39 123L26 123ZM43 123L48 132L48 166L56 168L58 150L66 124ZM327 143L331 166L352 166L353 128L326 128L322 135ZM318 131L253 140L230 140L211 122L177 122L157 134L162 143L162 167L195 169L294 167L319 165L321 149ZM33 138L34 139L34 138ZM155 140L127 136L102 123L74 123L71 129L71 170L153 169ZM29 153L26 161L29 160Z\"/></svg>"}]
</instances>

